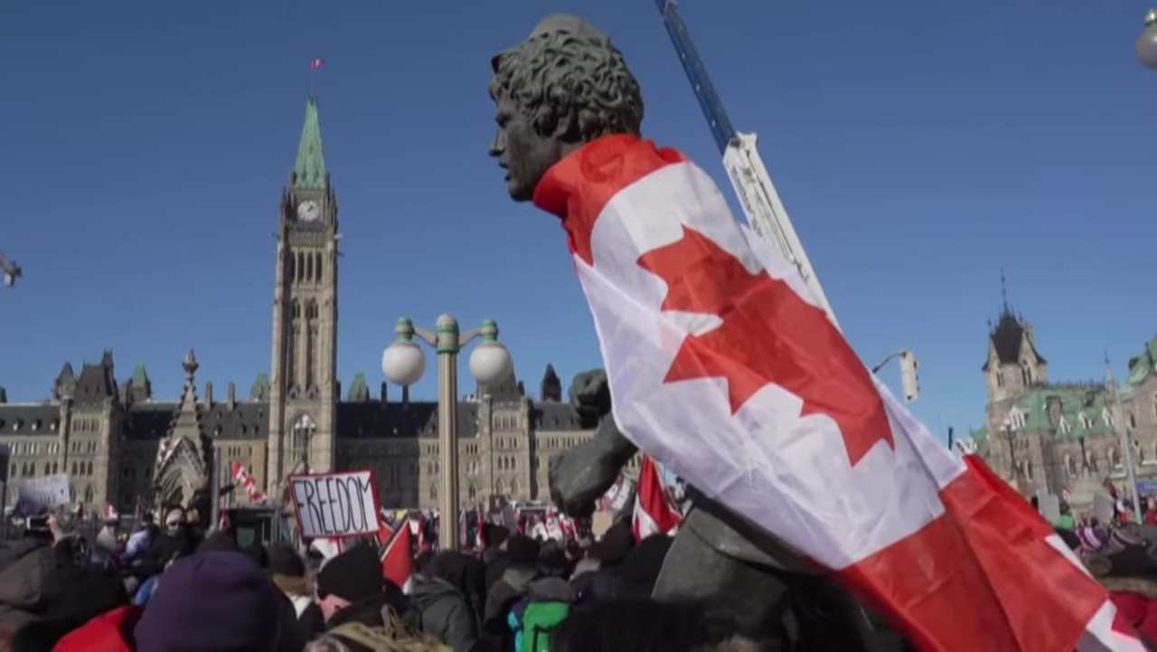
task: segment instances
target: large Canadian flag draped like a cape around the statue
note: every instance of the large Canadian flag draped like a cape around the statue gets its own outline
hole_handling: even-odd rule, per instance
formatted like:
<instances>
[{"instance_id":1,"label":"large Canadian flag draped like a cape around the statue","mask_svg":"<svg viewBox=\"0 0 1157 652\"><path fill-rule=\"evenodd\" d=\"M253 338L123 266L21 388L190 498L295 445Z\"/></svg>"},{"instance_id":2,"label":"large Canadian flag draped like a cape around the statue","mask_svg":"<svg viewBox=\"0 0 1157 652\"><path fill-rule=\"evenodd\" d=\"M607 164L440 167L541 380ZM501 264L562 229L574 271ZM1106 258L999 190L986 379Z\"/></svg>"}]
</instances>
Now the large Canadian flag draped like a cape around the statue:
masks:
<instances>
[{"instance_id":1,"label":"large Canadian flag draped like a cape around the statue","mask_svg":"<svg viewBox=\"0 0 1157 652\"><path fill-rule=\"evenodd\" d=\"M619 428L830 569L921 650L1144 647L1018 496L938 444L775 247L673 149L617 134L544 175Z\"/></svg>"}]
</instances>

